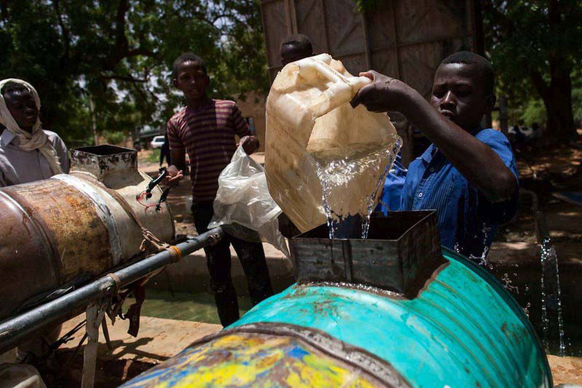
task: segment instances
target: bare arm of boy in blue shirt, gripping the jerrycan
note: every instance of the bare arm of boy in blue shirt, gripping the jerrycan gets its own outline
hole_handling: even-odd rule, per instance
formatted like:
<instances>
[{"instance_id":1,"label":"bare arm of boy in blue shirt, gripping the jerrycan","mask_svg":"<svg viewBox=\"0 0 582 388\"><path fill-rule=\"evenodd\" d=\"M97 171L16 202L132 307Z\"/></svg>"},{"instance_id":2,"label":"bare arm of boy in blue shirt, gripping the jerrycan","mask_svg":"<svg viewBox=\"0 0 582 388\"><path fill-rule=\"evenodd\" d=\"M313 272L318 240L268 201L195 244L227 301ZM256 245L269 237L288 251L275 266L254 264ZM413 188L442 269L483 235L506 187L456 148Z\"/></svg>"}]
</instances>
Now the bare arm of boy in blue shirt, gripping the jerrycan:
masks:
<instances>
[{"instance_id":1,"label":"bare arm of boy in blue shirt, gripping the jerrycan","mask_svg":"<svg viewBox=\"0 0 582 388\"><path fill-rule=\"evenodd\" d=\"M372 112L403 113L490 202L512 197L516 178L494 150L443 116L404 82L373 70L360 76L373 82L360 89L353 107L361 104Z\"/></svg>"}]
</instances>

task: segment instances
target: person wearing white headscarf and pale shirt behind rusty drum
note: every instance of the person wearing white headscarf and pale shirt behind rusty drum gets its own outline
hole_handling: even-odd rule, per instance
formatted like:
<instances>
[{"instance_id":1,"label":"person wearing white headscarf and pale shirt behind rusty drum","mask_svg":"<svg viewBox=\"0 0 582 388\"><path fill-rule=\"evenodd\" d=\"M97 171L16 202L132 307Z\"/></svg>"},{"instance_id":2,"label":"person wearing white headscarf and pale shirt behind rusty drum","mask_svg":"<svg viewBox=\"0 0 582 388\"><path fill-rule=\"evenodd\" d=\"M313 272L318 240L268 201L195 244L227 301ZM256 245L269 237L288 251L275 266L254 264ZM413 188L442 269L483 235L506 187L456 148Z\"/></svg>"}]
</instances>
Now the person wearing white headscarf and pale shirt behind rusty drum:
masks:
<instances>
[{"instance_id":1,"label":"person wearing white headscarf and pale shirt behind rusty drum","mask_svg":"<svg viewBox=\"0 0 582 388\"><path fill-rule=\"evenodd\" d=\"M0 81L0 187L47 179L69 172L65 143L43 130L40 99L28 82Z\"/></svg>"}]
</instances>

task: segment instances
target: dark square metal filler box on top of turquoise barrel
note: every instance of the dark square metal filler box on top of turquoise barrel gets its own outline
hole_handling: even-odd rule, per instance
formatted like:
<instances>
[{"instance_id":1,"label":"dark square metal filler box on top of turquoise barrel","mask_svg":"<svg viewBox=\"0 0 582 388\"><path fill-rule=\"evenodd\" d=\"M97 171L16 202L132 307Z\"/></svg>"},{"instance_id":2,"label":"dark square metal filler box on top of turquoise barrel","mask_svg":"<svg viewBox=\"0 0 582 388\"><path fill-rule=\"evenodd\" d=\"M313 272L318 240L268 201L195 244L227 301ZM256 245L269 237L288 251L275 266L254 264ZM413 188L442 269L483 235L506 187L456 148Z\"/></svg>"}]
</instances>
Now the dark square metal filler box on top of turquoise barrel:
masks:
<instances>
[{"instance_id":1,"label":"dark square metal filler box on top of turquoise barrel","mask_svg":"<svg viewBox=\"0 0 582 388\"><path fill-rule=\"evenodd\" d=\"M329 239L327 224L289 240L298 283L346 282L417 296L446 260L435 210L372 215L368 238Z\"/></svg>"}]
</instances>

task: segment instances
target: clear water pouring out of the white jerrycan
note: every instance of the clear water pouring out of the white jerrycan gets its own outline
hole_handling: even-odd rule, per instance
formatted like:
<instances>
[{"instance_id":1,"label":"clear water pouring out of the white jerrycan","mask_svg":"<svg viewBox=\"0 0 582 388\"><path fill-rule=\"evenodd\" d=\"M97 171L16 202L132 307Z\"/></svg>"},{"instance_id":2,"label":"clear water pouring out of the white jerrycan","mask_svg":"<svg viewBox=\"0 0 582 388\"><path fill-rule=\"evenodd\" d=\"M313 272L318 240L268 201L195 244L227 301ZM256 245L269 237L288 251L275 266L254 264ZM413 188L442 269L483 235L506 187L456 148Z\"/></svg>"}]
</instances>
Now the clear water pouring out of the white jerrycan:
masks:
<instances>
[{"instance_id":1,"label":"clear water pouring out of the white jerrycan","mask_svg":"<svg viewBox=\"0 0 582 388\"><path fill-rule=\"evenodd\" d=\"M379 149L378 145L367 145L356 151L346 152L341 157L325 155L325 153L312 155L315 173L321 182L321 202L327 218L330 239L336 237L340 227L354 228L355 225L350 225L354 221L361 224L361 238L367 238L370 216L374 211L378 193L384 186L384 181L400 146L402 146L402 139L394 136L388 138ZM363 203L365 206L360 207L357 214L350 214L349 211L343 209L346 188L354 182L354 179L370 175L377 181L372 192L365 197Z\"/></svg>"}]
</instances>

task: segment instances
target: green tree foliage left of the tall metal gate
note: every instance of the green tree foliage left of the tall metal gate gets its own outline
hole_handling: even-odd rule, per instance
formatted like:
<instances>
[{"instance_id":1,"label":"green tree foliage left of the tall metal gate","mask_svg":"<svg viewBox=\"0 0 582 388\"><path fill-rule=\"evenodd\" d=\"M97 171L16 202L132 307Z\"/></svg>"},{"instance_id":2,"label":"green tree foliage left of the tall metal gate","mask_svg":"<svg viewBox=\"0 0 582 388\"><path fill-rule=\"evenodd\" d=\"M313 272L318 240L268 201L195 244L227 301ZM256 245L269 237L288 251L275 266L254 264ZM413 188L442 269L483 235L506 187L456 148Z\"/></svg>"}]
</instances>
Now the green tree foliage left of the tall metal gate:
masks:
<instances>
[{"instance_id":1,"label":"green tree foliage left of the tall metal gate","mask_svg":"<svg viewBox=\"0 0 582 388\"><path fill-rule=\"evenodd\" d=\"M183 100L171 66L182 52L207 62L210 95L268 91L258 0L0 2L0 79L38 90L42 121L63 138L163 125Z\"/></svg>"}]
</instances>

